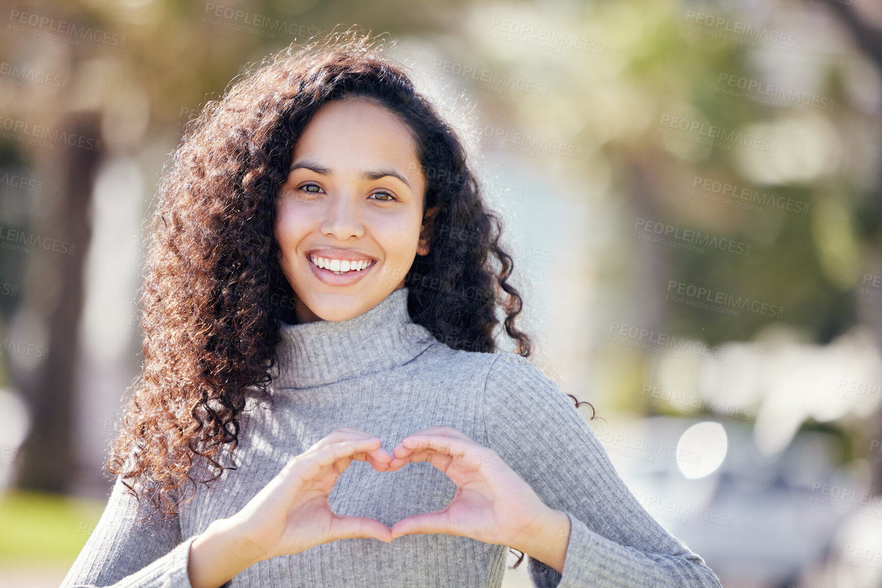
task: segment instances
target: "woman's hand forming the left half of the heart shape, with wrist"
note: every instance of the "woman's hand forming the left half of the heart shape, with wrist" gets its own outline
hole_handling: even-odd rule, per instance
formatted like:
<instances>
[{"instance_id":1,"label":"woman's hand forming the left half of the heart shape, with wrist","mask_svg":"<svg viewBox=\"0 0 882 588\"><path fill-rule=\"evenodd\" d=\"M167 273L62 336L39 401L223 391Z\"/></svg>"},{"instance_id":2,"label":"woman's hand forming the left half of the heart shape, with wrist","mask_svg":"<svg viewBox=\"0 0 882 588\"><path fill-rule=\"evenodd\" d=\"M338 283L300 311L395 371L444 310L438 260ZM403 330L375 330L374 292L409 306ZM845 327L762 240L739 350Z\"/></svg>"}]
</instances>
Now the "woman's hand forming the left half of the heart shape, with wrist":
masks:
<instances>
[{"instance_id":1,"label":"woman's hand forming the left half of the heart shape, with wrist","mask_svg":"<svg viewBox=\"0 0 882 588\"><path fill-rule=\"evenodd\" d=\"M339 539L370 537L391 542L392 531L368 517L334 514L328 495L353 459L385 472L392 456L381 441L343 427L292 458L233 517L209 525L191 545L193 588L217 588L250 565L293 555Z\"/></svg>"}]
</instances>

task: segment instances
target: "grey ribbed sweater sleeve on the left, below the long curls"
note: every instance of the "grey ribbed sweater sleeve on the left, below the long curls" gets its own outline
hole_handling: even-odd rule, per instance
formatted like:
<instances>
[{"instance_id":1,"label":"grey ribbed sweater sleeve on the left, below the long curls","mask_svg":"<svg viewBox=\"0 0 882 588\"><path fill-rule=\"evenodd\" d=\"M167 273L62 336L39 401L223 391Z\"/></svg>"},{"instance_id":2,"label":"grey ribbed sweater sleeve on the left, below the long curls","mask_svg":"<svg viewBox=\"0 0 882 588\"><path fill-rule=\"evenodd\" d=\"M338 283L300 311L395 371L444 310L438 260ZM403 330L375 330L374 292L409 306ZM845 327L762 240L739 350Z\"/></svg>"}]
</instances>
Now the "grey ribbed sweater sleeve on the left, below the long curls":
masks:
<instances>
[{"instance_id":1,"label":"grey ribbed sweater sleeve on the left, below the long curls","mask_svg":"<svg viewBox=\"0 0 882 588\"><path fill-rule=\"evenodd\" d=\"M187 563L198 535L182 542L177 517L138 525L138 501L126 490L117 478L98 525L61 588L191 588Z\"/></svg>"}]
</instances>

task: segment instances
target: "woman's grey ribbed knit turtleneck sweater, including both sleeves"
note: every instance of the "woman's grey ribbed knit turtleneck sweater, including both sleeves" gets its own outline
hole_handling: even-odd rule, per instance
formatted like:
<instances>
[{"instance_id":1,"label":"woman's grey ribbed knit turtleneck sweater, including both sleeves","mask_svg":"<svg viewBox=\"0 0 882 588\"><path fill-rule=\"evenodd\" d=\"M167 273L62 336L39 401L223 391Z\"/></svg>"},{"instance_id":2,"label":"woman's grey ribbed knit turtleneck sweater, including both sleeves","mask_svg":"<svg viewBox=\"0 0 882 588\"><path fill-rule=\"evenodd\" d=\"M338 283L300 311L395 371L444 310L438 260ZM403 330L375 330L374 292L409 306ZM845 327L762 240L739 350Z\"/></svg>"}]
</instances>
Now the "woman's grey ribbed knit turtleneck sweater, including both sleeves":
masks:
<instances>
[{"instance_id":1,"label":"woman's grey ribbed knit turtleneck sweater, including both sleeves","mask_svg":"<svg viewBox=\"0 0 882 588\"><path fill-rule=\"evenodd\" d=\"M517 354L453 350L415 324L407 288L345 321L282 324L273 403L251 402L240 421L238 469L198 485L176 519L136 523L138 503L120 480L64 578L74 586L189 588L190 544L215 519L232 517L290 458L340 427L391 451L432 425L459 429L497 452L550 508L570 518L563 575L527 559L539 588L720 586L714 572L650 517L581 413L556 383ZM379 473L353 461L330 494L340 515L391 526L443 509L456 493L427 462ZM228 584L273 587L495 587L508 548L467 537L405 535L392 543L345 539L274 557Z\"/></svg>"}]
</instances>

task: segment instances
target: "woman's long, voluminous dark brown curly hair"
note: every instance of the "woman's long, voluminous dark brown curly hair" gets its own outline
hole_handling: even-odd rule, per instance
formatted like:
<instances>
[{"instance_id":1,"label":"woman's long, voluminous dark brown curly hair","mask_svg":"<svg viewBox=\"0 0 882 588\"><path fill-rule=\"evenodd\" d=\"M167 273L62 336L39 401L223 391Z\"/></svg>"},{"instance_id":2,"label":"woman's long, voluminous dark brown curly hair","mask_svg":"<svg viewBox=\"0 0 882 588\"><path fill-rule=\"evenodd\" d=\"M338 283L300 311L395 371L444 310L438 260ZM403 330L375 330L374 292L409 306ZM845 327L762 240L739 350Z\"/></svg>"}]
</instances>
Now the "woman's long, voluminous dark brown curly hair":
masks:
<instances>
[{"instance_id":1,"label":"woman's long, voluminous dark brown curly hair","mask_svg":"<svg viewBox=\"0 0 882 588\"><path fill-rule=\"evenodd\" d=\"M413 321L452 348L494 353L501 306L515 353L531 353L515 326L522 302L508 282L500 220L452 128L383 49L351 31L292 44L208 102L172 154L149 226L143 368L108 458L108 471L163 516L192 499L183 490L235 469L246 400L271 398L280 322L295 322L296 300L273 237L275 199L297 139L331 100L376 101L418 145L424 218L437 210L430 252L406 278ZM225 450L231 465L221 464ZM206 466L207 479L193 477L194 465Z\"/></svg>"}]
</instances>

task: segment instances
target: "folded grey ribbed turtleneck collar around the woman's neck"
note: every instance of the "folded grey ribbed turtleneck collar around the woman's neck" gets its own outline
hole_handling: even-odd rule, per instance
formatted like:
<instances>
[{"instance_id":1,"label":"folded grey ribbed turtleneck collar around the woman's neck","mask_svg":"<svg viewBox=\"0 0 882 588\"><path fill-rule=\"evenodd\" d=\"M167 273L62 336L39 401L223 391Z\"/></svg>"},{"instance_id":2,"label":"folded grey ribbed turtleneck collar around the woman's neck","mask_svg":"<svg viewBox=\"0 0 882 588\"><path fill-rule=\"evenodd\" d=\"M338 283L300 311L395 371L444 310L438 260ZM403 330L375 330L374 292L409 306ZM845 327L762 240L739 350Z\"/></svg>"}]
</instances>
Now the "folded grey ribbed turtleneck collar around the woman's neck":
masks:
<instances>
[{"instance_id":1,"label":"folded grey ribbed turtleneck collar around the woman's neck","mask_svg":"<svg viewBox=\"0 0 882 588\"><path fill-rule=\"evenodd\" d=\"M273 388L312 388L398 367L432 345L407 311L407 287L345 321L280 324Z\"/></svg>"}]
</instances>

